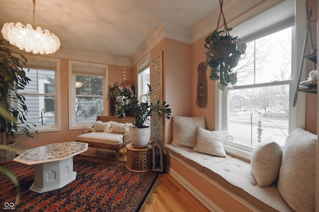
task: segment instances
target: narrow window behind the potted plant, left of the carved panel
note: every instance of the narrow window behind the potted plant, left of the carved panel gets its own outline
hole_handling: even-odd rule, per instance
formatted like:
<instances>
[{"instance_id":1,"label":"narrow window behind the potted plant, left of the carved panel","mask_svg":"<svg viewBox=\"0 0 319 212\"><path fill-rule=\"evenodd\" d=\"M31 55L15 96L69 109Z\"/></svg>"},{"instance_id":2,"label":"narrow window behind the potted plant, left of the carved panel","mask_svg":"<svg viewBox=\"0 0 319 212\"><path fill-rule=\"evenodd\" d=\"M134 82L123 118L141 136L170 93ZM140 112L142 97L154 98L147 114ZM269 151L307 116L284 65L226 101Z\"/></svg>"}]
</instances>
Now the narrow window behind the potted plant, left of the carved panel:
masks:
<instances>
[{"instance_id":1,"label":"narrow window behind the potted plant, left of the carved panel","mask_svg":"<svg viewBox=\"0 0 319 212\"><path fill-rule=\"evenodd\" d=\"M146 56L141 63L138 64L138 97L140 102L146 102L149 92L148 84L151 84L150 78L150 55ZM146 121L146 125L150 126L150 120Z\"/></svg>"}]
</instances>

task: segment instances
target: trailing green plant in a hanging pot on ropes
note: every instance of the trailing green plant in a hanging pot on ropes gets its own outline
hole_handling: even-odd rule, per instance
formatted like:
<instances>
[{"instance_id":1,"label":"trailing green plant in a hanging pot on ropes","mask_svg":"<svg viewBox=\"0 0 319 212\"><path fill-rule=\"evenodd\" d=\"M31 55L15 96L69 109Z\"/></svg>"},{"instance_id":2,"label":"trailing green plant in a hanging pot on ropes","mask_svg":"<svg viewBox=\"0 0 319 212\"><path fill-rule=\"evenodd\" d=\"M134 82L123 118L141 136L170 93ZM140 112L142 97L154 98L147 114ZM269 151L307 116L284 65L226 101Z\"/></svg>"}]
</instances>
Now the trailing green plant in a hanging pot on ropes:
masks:
<instances>
[{"instance_id":1,"label":"trailing green plant in a hanging pot on ropes","mask_svg":"<svg viewBox=\"0 0 319 212\"><path fill-rule=\"evenodd\" d=\"M223 13L223 1L219 0L220 13L217 28L205 38L204 47L207 49L206 67L210 67L210 79L219 80L217 87L225 90L227 86L232 86L237 82L237 72L233 72L245 54L246 43L239 43L239 38L229 34L232 28L227 27L226 19ZM223 16L224 30L217 31L219 21Z\"/></svg>"}]
</instances>

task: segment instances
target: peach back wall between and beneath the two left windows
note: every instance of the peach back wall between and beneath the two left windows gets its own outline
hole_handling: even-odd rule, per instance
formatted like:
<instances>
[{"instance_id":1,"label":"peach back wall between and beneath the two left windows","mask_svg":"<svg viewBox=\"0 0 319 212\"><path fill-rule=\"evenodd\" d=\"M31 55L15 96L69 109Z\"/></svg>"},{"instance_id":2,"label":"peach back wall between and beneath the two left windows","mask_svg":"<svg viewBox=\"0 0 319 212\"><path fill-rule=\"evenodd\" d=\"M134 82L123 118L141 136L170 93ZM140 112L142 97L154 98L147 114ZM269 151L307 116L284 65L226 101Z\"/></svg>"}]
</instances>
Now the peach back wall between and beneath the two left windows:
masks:
<instances>
[{"instance_id":1,"label":"peach back wall between and beneath the two left windows","mask_svg":"<svg viewBox=\"0 0 319 212\"><path fill-rule=\"evenodd\" d=\"M108 65L108 83L113 85L115 81L123 81L123 66ZM83 130L69 130L69 60L60 59L60 110L61 110L61 130L55 132L45 132L36 135L34 139L27 138L24 134L18 134L18 149L34 148L49 143L75 141L76 137L83 133ZM133 68L126 67L127 79L134 84Z\"/></svg>"}]
</instances>

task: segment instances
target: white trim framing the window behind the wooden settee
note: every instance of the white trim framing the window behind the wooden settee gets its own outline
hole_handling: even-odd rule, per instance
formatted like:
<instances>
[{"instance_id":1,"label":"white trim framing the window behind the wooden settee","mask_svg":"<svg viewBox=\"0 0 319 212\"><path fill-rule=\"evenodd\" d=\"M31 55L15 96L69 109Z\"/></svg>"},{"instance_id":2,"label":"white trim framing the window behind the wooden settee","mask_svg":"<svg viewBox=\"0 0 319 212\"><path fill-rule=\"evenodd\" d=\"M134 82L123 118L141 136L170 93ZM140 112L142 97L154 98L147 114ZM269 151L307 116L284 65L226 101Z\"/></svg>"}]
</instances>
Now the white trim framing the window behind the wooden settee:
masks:
<instances>
[{"instance_id":1,"label":"white trim framing the window behind the wooden settee","mask_svg":"<svg viewBox=\"0 0 319 212\"><path fill-rule=\"evenodd\" d=\"M104 92L103 92L103 115L108 116L109 114L109 104L107 101L107 93L108 93L108 72L109 68L108 65L102 64L94 64L94 63L87 63L87 62L79 62L79 61L69 61L69 130L80 130L80 129L88 129L92 127L92 123L87 124L76 124L75 116L75 79L72 73L72 65L84 66L84 67L95 67L95 68L102 68L105 69L105 75L103 75L103 83L104 83ZM89 71L86 73L87 75L94 76L94 73L90 73ZM74 85L74 86L72 86ZM74 98L73 98L74 97Z\"/></svg>"}]
</instances>

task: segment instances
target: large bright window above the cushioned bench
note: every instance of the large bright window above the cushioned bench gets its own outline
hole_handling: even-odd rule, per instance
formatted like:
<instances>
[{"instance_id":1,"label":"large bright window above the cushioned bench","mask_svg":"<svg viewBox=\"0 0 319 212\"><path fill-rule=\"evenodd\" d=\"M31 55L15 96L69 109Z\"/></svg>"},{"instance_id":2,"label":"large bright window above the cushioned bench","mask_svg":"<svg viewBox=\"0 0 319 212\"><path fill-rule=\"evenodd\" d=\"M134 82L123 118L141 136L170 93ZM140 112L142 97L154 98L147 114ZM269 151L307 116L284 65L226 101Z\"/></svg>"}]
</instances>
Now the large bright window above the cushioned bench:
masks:
<instances>
[{"instance_id":1,"label":"large bright window above the cushioned bench","mask_svg":"<svg viewBox=\"0 0 319 212\"><path fill-rule=\"evenodd\" d=\"M292 2L285 3L289 5L277 7L291 10L290 4L294 6ZM296 128L296 110L291 106L296 87L296 68L292 64L295 26L287 19L281 23L274 26L276 30L270 24L268 33L239 33L250 41L246 41L245 58L234 69L238 81L232 88L218 91L217 125L219 130L228 131L225 149L246 158L247 152L267 138L283 146L291 129Z\"/></svg>"}]
</instances>

